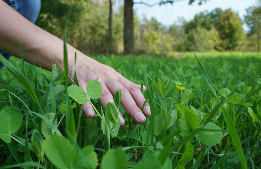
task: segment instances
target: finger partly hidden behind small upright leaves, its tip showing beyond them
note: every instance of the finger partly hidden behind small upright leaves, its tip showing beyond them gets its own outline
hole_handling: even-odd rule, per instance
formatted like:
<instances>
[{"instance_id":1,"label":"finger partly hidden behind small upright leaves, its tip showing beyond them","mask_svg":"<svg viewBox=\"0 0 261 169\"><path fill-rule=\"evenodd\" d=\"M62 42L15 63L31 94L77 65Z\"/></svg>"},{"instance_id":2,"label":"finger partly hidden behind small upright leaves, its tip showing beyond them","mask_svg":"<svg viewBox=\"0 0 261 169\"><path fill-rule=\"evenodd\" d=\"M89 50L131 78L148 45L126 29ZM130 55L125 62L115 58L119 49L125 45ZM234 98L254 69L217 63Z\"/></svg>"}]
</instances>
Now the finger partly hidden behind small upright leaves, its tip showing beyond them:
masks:
<instances>
[{"instance_id":1,"label":"finger partly hidden behind small upright leaves, its tip showing beyond them","mask_svg":"<svg viewBox=\"0 0 261 169\"><path fill-rule=\"evenodd\" d=\"M103 83L102 83L102 89L103 89L103 92L102 92L102 96L99 98L99 101L101 102L102 106L104 108L106 108L107 103L108 102L114 103L114 100L113 100L112 93L108 90L108 88L106 86L103 85ZM122 117L120 112L119 112L119 117L120 117L120 120L121 120L120 126L123 126L125 124L125 120Z\"/></svg>"}]
</instances>

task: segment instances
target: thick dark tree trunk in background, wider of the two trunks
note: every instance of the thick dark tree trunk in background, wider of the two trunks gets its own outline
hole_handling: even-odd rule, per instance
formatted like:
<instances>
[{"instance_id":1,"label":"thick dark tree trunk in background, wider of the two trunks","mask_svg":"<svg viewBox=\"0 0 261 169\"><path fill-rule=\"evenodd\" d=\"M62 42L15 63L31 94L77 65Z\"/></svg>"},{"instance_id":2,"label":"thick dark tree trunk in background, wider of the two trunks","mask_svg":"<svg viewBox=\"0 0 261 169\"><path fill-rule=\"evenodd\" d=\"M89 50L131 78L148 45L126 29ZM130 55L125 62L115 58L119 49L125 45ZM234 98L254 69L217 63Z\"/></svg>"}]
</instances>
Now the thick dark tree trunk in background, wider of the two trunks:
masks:
<instances>
[{"instance_id":1,"label":"thick dark tree trunk in background, wider of the two trunks","mask_svg":"<svg viewBox=\"0 0 261 169\"><path fill-rule=\"evenodd\" d=\"M124 0L124 54L134 51L133 0Z\"/></svg>"}]
</instances>

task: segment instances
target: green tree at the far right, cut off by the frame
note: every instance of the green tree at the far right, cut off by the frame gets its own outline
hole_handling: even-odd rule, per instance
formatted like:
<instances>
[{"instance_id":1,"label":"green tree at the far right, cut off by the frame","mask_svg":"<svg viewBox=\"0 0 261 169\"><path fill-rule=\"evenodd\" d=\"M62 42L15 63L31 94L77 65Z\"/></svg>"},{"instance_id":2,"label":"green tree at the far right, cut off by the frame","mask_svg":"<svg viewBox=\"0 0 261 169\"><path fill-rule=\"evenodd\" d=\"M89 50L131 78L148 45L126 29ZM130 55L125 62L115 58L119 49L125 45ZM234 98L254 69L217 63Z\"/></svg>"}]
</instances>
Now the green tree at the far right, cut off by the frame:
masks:
<instances>
[{"instance_id":1,"label":"green tree at the far right, cut off by the frame","mask_svg":"<svg viewBox=\"0 0 261 169\"><path fill-rule=\"evenodd\" d=\"M254 40L256 51L261 49L261 0L258 1L257 6L252 6L246 9L245 23L250 28L248 38Z\"/></svg>"}]
</instances>

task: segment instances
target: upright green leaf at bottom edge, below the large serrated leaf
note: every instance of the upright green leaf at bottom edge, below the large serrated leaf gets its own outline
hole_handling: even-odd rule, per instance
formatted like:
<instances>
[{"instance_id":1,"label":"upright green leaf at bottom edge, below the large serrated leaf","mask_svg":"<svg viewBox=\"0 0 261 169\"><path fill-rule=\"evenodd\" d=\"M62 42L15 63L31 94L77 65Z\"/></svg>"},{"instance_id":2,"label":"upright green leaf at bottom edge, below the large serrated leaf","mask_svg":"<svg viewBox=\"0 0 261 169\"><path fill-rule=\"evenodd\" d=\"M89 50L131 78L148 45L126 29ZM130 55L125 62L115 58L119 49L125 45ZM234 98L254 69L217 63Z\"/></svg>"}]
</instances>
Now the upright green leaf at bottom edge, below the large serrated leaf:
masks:
<instances>
[{"instance_id":1,"label":"upright green leaf at bottom edge, below the large serrated leaf","mask_svg":"<svg viewBox=\"0 0 261 169\"><path fill-rule=\"evenodd\" d=\"M178 159L177 167L178 169L185 169L185 165L192 160L194 155L194 147L188 142L182 152L181 157Z\"/></svg>"}]
</instances>

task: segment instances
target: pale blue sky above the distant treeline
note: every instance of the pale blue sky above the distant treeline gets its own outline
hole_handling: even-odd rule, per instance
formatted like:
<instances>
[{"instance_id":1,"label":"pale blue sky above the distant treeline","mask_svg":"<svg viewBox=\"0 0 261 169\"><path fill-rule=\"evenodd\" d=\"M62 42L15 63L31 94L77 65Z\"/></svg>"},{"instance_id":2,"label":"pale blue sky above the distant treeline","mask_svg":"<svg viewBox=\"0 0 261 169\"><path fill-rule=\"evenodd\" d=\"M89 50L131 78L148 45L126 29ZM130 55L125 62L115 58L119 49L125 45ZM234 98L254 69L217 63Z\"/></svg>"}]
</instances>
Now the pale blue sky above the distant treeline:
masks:
<instances>
[{"instance_id":1,"label":"pale blue sky above the distant treeline","mask_svg":"<svg viewBox=\"0 0 261 169\"><path fill-rule=\"evenodd\" d=\"M141 1L142 0L134 0L134 2ZM143 0L143 2L148 4L159 1L160 0ZM173 5L168 3L161 6L155 5L153 7L148 7L143 4L134 4L133 8L140 19L144 16L148 19L155 17L163 25L168 26L173 23L179 24L179 19L181 17L185 18L186 21L190 21L194 18L195 14L205 10L210 12L217 7L220 7L222 10L231 8L234 12L239 14L241 19L243 19L246 14L245 9L253 6L256 0L208 0L206 3L203 2L202 5L198 5L198 0L192 5L188 5L188 2L189 0L183 0L173 3ZM245 24L243 25L243 28L246 31L248 30Z\"/></svg>"}]
</instances>

